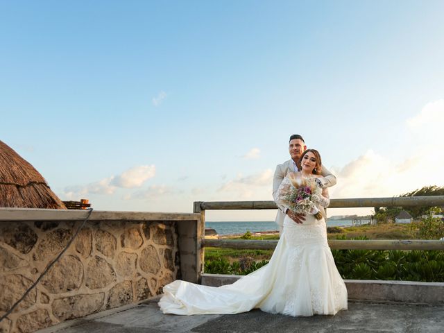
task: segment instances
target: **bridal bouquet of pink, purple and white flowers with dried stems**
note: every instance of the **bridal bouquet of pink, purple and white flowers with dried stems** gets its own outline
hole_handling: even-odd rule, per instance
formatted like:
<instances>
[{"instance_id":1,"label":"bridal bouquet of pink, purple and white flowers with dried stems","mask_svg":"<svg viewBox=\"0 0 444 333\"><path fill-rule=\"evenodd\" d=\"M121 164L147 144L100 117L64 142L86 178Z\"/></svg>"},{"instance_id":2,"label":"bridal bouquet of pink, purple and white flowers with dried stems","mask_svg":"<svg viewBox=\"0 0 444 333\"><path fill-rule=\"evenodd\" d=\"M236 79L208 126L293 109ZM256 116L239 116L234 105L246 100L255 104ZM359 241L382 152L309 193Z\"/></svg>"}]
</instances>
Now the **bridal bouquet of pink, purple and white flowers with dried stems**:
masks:
<instances>
[{"instance_id":1,"label":"bridal bouquet of pink, purple and white flowers with dried stems","mask_svg":"<svg viewBox=\"0 0 444 333\"><path fill-rule=\"evenodd\" d=\"M315 178L289 178L289 180L290 186L282 189L280 196L282 204L296 214L314 214L316 219L321 220L323 216L317 209L316 203L319 202L322 189L316 185Z\"/></svg>"}]
</instances>

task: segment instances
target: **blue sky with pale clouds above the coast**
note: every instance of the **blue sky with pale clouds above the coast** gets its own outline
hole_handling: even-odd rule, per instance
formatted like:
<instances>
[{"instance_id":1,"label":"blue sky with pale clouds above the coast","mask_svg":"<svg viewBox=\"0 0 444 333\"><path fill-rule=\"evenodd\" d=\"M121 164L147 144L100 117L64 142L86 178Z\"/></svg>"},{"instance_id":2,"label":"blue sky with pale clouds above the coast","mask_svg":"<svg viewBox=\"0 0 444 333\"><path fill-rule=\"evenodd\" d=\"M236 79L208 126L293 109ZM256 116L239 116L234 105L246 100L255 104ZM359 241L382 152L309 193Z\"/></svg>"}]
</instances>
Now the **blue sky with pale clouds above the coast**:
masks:
<instances>
[{"instance_id":1,"label":"blue sky with pale clouds above the coast","mask_svg":"<svg viewBox=\"0 0 444 333\"><path fill-rule=\"evenodd\" d=\"M332 198L443 186L443 12L432 0L0 0L0 139L62 200L96 210L272 200L292 134L337 176Z\"/></svg>"}]
</instances>

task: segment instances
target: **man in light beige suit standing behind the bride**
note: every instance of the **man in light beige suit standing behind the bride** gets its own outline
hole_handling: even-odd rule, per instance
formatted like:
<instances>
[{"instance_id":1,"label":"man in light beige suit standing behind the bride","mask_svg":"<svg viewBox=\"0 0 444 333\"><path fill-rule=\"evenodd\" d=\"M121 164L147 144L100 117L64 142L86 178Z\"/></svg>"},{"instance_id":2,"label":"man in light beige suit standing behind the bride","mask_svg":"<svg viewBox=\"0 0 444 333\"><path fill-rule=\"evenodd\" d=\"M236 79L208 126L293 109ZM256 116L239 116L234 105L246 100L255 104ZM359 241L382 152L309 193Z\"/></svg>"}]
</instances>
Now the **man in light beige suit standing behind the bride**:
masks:
<instances>
[{"instance_id":1,"label":"man in light beige suit standing behind the bride","mask_svg":"<svg viewBox=\"0 0 444 333\"><path fill-rule=\"evenodd\" d=\"M293 172L299 171L297 163L299 162L300 156L306 149L307 146L305 146L304 139L300 135L298 134L291 135L289 142L289 153L291 159L282 164L278 164L275 170L275 176L273 178L273 199L275 201L276 201L276 194L278 194L280 183L282 182L284 177L287 176L287 173L291 171ZM321 185L321 187L330 187L336 184L336 177L325 167L322 167L321 174L323 177L316 178L316 182L318 182L318 184ZM275 222L278 223L280 232L282 232L282 228L284 225L284 218L286 214L296 223L302 223L303 221L305 221L304 215L298 215L294 212L291 212L291 210L288 210L285 207L279 206Z\"/></svg>"}]
</instances>

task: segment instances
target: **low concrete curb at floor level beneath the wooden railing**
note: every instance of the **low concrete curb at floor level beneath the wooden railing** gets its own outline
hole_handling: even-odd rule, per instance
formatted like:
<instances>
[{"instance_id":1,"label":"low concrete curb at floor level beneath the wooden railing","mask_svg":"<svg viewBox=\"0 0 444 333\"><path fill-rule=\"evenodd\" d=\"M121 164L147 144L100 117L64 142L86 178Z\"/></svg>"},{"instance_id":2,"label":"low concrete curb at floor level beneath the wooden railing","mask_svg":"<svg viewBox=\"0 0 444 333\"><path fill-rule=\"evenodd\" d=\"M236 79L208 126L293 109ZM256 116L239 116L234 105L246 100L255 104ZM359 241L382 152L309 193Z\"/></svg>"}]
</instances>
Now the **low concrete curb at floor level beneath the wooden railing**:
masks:
<instances>
[{"instance_id":1,"label":"low concrete curb at floor level beneath the wooden railing","mask_svg":"<svg viewBox=\"0 0 444 333\"><path fill-rule=\"evenodd\" d=\"M241 276L203 274L201 283L220 287L237 281ZM444 305L443 282L345 280L345 285L349 300Z\"/></svg>"}]
</instances>

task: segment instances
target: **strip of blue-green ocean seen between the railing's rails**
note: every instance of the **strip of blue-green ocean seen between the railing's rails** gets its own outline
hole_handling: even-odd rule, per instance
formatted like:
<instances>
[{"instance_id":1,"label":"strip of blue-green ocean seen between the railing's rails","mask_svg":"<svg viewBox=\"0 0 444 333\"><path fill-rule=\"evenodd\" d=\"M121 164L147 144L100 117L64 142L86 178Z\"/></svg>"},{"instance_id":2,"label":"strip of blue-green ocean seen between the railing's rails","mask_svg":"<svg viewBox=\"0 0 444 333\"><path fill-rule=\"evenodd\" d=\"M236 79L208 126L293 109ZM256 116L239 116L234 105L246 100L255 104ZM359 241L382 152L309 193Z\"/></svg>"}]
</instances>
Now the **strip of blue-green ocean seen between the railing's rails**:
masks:
<instances>
[{"instance_id":1,"label":"strip of blue-green ocean seen between the railing's rails","mask_svg":"<svg viewBox=\"0 0 444 333\"><path fill-rule=\"evenodd\" d=\"M362 221L362 224L366 224L369 221ZM352 220L327 220L327 226L349 226L352 225ZM359 225L359 224L358 224ZM207 222L205 221L205 227L213 228L220 235L225 234L245 234L249 232L259 231L276 231L279 230L278 225L274 221L244 221L244 222Z\"/></svg>"}]
</instances>

